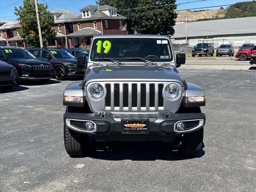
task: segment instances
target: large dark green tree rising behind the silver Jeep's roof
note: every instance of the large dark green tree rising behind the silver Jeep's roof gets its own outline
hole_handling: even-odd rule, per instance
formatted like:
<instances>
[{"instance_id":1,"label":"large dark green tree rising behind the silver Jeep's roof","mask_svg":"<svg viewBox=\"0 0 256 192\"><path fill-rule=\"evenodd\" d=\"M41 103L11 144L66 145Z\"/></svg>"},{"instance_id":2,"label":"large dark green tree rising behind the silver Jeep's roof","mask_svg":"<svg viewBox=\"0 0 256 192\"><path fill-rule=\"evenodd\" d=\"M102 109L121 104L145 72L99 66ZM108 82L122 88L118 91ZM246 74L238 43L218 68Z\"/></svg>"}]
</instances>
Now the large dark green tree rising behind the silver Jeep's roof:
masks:
<instances>
[{"instance_id":1,"label":"large dark green tree rising behind the silver Jeep's roof","mask_svg":"<svg viewBox=\"0 0 256 192\"><path fill-rule=\"evenodd\" d=\"M176 0L96 0L98 5L116 7L127 17L128 33L173 35Z\"/></svg>"}]
</instances>

